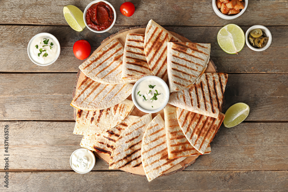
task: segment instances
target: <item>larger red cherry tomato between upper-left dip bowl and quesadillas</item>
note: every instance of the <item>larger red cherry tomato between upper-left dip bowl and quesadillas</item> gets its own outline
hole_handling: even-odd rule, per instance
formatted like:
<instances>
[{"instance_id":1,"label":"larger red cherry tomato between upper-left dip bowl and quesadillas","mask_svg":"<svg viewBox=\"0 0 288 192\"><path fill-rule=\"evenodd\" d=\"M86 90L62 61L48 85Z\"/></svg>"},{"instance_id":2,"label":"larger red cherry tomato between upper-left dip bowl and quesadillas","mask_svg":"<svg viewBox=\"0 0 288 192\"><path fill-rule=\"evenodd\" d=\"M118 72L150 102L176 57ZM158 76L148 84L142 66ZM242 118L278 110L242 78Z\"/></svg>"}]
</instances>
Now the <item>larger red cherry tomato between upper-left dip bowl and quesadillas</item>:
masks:
<instances>
[{"instance_id":1,"label":"larger red cherry tomato between upper-left dip bowl and quesadillas","mask_svg":"<svg viewBox=\"0 0 288 192\"><path fill-rule=\"evenodd\" d=\"M77 59L84 60L91 53L91 45L86 40L76 41L73 45L73 53Z\"/></svg>"}]
</instances>

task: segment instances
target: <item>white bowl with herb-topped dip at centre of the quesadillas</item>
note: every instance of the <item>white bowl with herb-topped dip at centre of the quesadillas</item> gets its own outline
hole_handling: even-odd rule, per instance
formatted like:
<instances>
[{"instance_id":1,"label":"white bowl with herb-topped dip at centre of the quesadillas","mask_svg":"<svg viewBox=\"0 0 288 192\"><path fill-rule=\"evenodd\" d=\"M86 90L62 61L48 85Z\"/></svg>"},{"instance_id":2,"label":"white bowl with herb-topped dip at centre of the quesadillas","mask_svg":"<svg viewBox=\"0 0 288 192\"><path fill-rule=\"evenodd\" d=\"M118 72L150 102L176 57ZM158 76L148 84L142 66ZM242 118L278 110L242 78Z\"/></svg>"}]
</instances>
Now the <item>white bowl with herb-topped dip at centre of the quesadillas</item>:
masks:
<instances>
[{"instance_id":1,"label":"white bowl with herb-topped dip at centre of the quesadillas","mask_svg":"<svg viewBox=\"0 0 288 192\"><path fill-rule=\"evenodd\" d=\"M155 86L154 88L149 88L149 85ZM155 100L155 94L157 95L157 100ZM153 75L142 77L134 84L132 89L134 105L145 113L157 113L161 111L167 105L169 96L169 88L165 81Z\"/></svg>"}]
</instances>

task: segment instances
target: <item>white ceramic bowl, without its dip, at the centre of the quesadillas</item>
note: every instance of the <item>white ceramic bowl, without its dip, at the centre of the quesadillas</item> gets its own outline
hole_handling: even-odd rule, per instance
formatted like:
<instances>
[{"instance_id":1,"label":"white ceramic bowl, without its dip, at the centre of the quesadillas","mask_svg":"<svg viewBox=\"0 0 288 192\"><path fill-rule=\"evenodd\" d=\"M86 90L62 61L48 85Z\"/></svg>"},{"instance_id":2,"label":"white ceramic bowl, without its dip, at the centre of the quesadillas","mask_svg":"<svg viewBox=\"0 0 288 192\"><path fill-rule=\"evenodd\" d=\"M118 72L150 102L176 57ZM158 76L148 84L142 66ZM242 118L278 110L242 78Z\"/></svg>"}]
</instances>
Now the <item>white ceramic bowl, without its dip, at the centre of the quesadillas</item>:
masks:
<instances>
[{"instance_id":1,"label":"white ceramic bowl, without its dip, at the centre of the quesadillas","mask_svg":"<svg viewBox=\"0 0 288 192\"><path fill-rule=\"evenodd\" d=\"M147 110L147 109L143 109L142 107L139 106L139 104L137 103L136 101L136 98L135 98L135 95L137 95L136 93L136 87L137 85L145 80L145 79L153 79L155 81L158 81L160 82L164 88L165 88L165 94L168 96L166 97L166 100L163 102L162 106L159 107L158 109L155 109L155 110ZM150 75L150 76L146 76L146 77L142 77L141 79L139 79L133 86L133 89L132 89L132 100L134 102L134 105L140 110L140 111L143 111L144 113L157 113L158 111L161 111L168 103L169 101L169 96L170 96L170 92L169 92L169 88L168 88L168 85L165 83L165 81L163 81L163 79L161 79L160 77L157 77L157 76L153 76L153 75Z\"/></svg>"}]
</instances>

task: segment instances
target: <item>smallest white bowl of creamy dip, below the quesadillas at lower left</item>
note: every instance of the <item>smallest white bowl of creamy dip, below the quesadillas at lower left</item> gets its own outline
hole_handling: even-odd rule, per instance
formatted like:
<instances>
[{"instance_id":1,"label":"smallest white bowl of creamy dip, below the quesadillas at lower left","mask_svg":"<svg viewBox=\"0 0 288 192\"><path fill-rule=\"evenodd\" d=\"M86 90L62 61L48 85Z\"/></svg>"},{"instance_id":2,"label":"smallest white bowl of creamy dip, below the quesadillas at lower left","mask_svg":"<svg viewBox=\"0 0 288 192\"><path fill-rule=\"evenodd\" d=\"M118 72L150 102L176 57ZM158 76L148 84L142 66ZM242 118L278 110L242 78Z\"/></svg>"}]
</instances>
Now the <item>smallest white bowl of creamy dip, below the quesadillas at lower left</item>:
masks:
<instances>
[{"instance_id":1,"label":"smallest white bowl of creamy dip, below the quesadillas at lower left","mask_svg":"<svg viewBox=\"0 0 288 192\"><path fill-rule=\"evenodd\" d=\"M70 156L70 166L77 173L88 173L95 166L95 155L89 149L76 149Z\"/></svg>"}]
</instances>

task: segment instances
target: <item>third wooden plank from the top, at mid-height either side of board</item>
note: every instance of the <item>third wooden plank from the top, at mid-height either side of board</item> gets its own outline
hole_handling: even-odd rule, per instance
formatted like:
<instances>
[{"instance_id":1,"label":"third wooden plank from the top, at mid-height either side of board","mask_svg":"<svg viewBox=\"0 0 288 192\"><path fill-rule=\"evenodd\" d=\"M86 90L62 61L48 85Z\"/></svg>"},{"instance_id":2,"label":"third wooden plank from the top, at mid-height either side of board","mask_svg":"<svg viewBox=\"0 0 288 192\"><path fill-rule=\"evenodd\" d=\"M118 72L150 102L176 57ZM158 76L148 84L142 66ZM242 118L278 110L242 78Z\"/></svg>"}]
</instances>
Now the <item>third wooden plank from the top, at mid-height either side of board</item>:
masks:
<instances>
[{"instance_id":1,"label":"third wooden plank from the top, at mid-height either side of board","mask_svg":"<svg viewBox=\"0 0 288 192\"><path fill-rule=\"evenodd\" d=\"M224 111L236 102L245 102L251 108L247 121L287 121L287 77L229 74ZM63 73L2 74L0 120L73 120L69 104L75 79L76 74Z\"/></svg>"}]
</instances>

